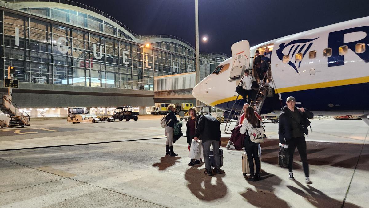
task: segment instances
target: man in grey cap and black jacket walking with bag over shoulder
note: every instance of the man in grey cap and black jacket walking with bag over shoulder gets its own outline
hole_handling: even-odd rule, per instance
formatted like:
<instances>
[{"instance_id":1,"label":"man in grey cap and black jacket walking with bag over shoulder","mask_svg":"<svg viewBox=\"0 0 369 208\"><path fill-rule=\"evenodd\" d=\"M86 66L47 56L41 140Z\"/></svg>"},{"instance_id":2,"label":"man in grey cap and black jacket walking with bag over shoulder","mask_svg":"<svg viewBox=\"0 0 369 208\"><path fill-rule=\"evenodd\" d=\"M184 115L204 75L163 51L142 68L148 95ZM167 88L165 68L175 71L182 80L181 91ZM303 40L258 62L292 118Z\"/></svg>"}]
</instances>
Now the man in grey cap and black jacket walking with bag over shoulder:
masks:
<instances>
[{"instance_id":1,"label":"man in grey cap and black jacket walking with bag over shoulder","mask_svg":"<svg viewBox=\"0 0 369 208\"><path fill-rule=\"evenodd\" d=\"M313 118L314 114L304 108L296 108L296 99L288 97L286 106L282 107L279 115L279 141L288 144L290 160L288 163L288 178L294 180L292 173L293 153L297 147L305 173L305 183L312 184L309 178L309 164L306 155L306 141L304 133L307 135L307 127L310 124L308 118ZM284 145L283 145L284 146Z\"/></svg>"}]
</instances>

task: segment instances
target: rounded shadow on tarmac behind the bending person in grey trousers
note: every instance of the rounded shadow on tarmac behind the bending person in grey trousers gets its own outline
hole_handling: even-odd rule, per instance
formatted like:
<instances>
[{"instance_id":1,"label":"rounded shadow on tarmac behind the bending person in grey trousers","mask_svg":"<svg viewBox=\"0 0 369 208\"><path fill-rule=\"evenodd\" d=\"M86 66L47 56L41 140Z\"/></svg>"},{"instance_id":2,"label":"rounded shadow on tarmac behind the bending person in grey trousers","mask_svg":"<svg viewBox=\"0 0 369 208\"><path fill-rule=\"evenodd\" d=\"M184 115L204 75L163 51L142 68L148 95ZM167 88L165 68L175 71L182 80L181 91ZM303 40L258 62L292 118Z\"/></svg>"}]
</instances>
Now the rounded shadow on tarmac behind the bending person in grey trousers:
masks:
<instances>
[{"instance_id":1,"label":"rounded shadow on tarmac behind the bending person in grey trousers","mask_svg":"<svg viewBox=\"0 0 369 208\"><path fill-rule=\"evenodd\" d=\"M224 184L223 174L213 176L204 175L205 168L191 167L187 169L184 178L188 181L187 187L192 194L200 200L213 201L225 197L228 192L227 185ZM213 172L214 173L214 172ZM216 185L211 183L211 179L216 178ZM204 183L202 186L201 184Z\"/></svg>"}]
</instances>

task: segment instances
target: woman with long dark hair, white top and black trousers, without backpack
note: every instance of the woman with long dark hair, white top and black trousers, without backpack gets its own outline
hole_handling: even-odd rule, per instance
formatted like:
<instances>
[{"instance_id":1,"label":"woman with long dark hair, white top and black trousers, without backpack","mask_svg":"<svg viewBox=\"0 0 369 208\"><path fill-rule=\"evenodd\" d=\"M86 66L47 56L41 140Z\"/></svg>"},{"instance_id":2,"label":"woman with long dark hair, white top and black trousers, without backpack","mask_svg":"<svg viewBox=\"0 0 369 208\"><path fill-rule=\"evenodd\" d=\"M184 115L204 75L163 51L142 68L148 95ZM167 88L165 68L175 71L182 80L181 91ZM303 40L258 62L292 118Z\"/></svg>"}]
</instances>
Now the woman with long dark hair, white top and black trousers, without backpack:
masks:
<instances>
[{"instance_id":1,"label":"woman with long dark hair, white top and black trousers, without backpack","mask_svg":"<svg viewBox=\"0 0 369 208\"><path fill-rule=\"evenodd\" d=\"M252 142L250 140L249 134L251 133L252 129L261 128L261 127L262 127L262 123L259 120L259 118L256 117L254 108L251 106L248 106L245 110L245 119L244 119L244 122L242 123L242 127L239 130L239 132L241 134L246 133L244 145L245 145L245 151L246 151L247 159L249 161L249 166L250 166L251 181L260 180L260 160L259 160L259 154L258 154L259 143ZM254 161L252 161L252 158L254 158L255 160L255 166L256 166L255 172L254 172Z\"/></svg>"}]
</instances>

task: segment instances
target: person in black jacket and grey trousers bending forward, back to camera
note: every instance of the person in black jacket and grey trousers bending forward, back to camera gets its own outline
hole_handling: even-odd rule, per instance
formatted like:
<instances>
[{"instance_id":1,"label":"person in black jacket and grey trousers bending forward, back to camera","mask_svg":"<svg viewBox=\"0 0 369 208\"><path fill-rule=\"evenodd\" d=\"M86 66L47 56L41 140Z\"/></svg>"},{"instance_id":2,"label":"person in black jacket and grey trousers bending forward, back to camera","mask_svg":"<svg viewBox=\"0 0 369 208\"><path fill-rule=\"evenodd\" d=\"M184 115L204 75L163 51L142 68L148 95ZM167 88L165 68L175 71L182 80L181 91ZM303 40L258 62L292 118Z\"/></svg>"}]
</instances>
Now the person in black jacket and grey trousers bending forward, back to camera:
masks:
<instances>
[{"instance_id":1,"label":"person in black jacket and grey trousers bending forward, back to camera","mask_svg":"<svg viewBox=\"0 0 369 208\"><path fill-rule=\"evenodd\" d=\"M219 157L219 145L220 145L220 123L219 121L211 116L210 113L205 115L201 115L199 120L197 121L196 131L194 135L194 140L198 140L199 137L202 141L203 150L204 150L204 160L205 160L205 172L206 175L213 175L211 173L211 164L210 164L210 145L213 144L213 153L215 162L217 164L216 171L217 174L221 174L221 161Z\"/></svg>"}]
</instances>

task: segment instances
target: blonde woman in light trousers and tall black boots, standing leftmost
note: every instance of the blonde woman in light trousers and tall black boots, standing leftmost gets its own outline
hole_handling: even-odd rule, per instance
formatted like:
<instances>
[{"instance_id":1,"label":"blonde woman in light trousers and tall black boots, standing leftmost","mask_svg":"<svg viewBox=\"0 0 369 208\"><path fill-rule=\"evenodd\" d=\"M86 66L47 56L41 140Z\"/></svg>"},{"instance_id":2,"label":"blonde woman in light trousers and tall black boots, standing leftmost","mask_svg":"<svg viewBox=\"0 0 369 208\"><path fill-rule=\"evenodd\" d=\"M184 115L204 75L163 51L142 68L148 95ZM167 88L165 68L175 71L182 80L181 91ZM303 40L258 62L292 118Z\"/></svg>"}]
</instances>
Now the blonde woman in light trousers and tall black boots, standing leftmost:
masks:
<instances>
[{"instance_id":1,"label":"blonde woman in light trousers and tall black boots, standing leftmost","mask_svg":"<svg viewBox=\"0 0 369 208\"><path fill-rule=\"evenodd\" d=\"M166 122L168 124L165 127L165 135L166 135L166 142L165 142L165 155L170 155L172 157L177 156L176 153L173 151L173 135L174 135L174 124L178 123L176 115L174 114L174 111L176 109L176 106L174 104L170 104L167 107L169 113L166 114Z\"/></svg>"}]
</instances>

